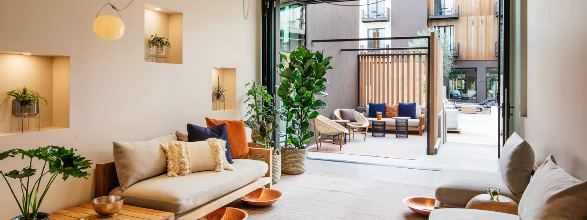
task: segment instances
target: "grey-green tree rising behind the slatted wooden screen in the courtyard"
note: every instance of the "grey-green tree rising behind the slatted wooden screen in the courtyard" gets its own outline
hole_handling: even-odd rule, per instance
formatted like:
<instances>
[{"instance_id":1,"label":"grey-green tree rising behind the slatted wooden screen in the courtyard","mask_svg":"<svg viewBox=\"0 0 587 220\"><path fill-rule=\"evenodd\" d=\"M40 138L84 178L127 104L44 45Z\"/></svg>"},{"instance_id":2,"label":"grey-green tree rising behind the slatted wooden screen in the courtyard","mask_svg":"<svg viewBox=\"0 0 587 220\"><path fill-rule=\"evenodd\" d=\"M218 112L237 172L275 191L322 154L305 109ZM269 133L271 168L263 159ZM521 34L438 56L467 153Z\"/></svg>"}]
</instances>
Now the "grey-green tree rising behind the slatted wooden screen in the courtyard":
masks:
<instances>
[{"instance_id":1,"label":"grey-green tree rising behind the slatted wooden screen in the courtyard","mask_svg":"<svg viewBox=\"0 0 587 220\"><path fill-rule=\"evenodd\" d=\"M417 34L418 36L430 36L431 32L436 33L436 38L438 38L438 42L440 42L440 46L442 47L443 76L448 78L455 67L453 52L450 48L450 38L446 33L440 33L438 28L424 28L422 31L417 32ZM426 48L428 46L428 42L426 39L414 39L412 42L408 42L408 45L410 48Z\"/></svg>"}]
</instances>

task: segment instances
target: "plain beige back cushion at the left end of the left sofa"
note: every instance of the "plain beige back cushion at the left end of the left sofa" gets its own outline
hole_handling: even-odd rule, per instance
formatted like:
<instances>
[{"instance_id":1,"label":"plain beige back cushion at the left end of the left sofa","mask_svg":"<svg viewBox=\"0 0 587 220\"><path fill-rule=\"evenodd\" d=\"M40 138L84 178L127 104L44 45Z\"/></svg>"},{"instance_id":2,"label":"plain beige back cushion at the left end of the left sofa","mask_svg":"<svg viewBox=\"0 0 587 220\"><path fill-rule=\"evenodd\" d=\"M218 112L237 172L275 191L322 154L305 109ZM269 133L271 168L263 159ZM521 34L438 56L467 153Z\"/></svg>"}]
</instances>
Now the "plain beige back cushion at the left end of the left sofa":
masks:
<instances>
[{"instance_id":1,"label":"plain beige back cushion at the left end of the left sofa","mask_svg":"<svg viewBox=\"0 0 587 220\"><path fill-rule=\"evenodd\" d=\"M113 142L114 164L122 190L137 181L167 171L167 160L161 143L177 141L175 134L149 141Z\"/></svg>"}]
</instances>

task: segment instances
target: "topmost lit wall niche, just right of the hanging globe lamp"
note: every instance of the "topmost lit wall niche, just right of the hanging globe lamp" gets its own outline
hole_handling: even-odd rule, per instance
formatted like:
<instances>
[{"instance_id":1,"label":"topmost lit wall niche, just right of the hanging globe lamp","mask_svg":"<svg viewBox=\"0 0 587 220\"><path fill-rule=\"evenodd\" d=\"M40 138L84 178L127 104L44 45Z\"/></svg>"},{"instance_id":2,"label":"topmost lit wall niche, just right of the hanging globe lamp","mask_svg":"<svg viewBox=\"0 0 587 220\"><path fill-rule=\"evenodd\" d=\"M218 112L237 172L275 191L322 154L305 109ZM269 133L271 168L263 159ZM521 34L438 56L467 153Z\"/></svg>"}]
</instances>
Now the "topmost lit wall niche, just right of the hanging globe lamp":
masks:
<instances>
[{"instance_id":1,"label":"topmost lit wall niche, just right of the hanging globe lamp","mask_svg":"<svg viewBox=\"0 0 587 220\"><path fill-rule=\"evenodd\" d=\"M144 60L154 63L183 63L183 13L145 4ZM151 35L166 37L170 47L149 46Z\"/></svg>"}]
</instances>

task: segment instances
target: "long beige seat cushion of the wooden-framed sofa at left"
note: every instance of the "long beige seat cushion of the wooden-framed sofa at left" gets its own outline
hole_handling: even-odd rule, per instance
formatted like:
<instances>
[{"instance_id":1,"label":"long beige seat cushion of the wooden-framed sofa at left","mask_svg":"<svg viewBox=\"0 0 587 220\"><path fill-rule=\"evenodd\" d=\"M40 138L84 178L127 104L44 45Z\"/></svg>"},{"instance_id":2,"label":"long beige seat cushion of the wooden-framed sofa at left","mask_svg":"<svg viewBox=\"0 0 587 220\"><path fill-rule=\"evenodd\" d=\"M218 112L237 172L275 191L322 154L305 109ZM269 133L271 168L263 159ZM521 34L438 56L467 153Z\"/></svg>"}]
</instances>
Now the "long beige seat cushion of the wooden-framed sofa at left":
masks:
<instances>
[{"instance_id":1,"label":"long beige seat cushion of the wooden-framed sofa at left","mask_svg":"<svg viewBox=\"0 0 587 220\"><path fill-rule=\"evenodd\" d=\"M235 159L234 171L193 172L181 177L159 175L122 191L114 188L110 195L122 195L125 205L181 214L220 198L264 177L269 167L256 160Z\"/></svg>"}]
</instances>

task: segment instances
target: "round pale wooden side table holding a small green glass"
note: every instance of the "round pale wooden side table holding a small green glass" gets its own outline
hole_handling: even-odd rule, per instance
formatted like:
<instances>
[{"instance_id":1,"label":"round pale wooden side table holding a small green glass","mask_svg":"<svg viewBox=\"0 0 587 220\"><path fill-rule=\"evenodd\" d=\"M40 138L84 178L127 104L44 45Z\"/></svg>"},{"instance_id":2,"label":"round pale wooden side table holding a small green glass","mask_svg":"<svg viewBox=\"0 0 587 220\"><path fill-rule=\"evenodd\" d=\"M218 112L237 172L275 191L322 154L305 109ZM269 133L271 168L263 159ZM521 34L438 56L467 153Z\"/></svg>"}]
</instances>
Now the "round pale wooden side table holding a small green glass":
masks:
<instances>
[{"instance_id":1,"label":"round pale wooden side table holding a small green glass","mask_svg":"<svg viewBox=\"0 0 587 220\"><path fill-rule=\"evenodd\" d=\"M467 203L465 208L518 215L518 204L503 195L500 195L497 199L491 198L489 194L477 195Z\"/></svg>"}]
</instances>

